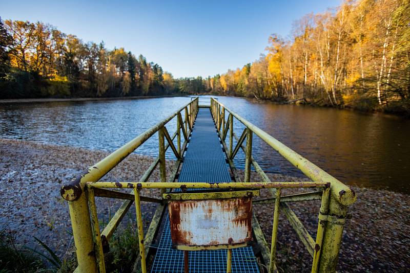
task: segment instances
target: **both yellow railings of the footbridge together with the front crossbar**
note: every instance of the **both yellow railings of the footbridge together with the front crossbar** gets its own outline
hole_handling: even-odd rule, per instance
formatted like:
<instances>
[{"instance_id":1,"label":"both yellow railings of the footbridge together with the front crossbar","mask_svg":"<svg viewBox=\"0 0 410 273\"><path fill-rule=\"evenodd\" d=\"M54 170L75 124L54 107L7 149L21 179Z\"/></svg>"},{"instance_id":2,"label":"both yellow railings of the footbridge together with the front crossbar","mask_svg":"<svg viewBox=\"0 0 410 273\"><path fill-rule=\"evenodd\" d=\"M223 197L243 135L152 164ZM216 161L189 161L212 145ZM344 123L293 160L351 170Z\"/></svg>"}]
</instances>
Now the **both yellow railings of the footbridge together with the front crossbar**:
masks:
<instances>
[{"instance_id":1,"label":"both yellow railings of the footbridge together with the front crossbar","mask_svg":"<svg viewBox=\"0 0 410 273\"><path fill-rule=\"evenodd\" d=\"M350 188L342 184L336 178L327 174L314 164L310 163L304 157L298 155L288 147L275 140L269 134L257 128L247 120L244 120L235 112L226 108L223 104L211 98L210 110L213 119L218 128L222 145L227 152L229 164L235 176L234 183L229 184L212 184L210 183L173 183L167 182L165 152L171 147L177 160L174 164L171 173L170 181L174 181L182 161L183 151L186 149L189 135L192 131L196 113L199 108L198 98L193 99L190 103L180 108L167 119L159 122L146 132L139 135L134 140L114 151L106 158L90 167L88 171L77 178L73 179L70 184L61 188L61 196L69 202L70 217L72 222L74 243L76 247L76 255L78 260L78 272L105 272L104 262L104 246L108 244L109 239L113 235L116 227L121 219L125 216L132 202L135 201L136 218L138 225L139 238L139 261L140 268L143 272L146 271L146 257L148 255L150 244L153 242L156 232L158 231L159 222L165 211L166 195L162 194L160 198L140 196L140 190L144 188L158 188L162 193L166 189L181 188L219 188L219 189L272 189L273 196L271 198L254 200L254 204L275 203L273 215L273 233L271 249L269 250L263 233L260 230L257 218L253 215L252 226L257 242L262 244L262 258L268 265L270 272L276 270L275 253L276 253L276 238L278 228L279 211L283 212L294 227L299 238L308 249L313 257L312 272L331 272L336 270L337 256L339 253L341 235L343 225L346 218L346 206L354 203L356 196ZM181 113L182 112L182 113ZM228 112L228 119L225 119L225 113ZM183 115L185 113L185 115ZM182 119L184 116L185 119ZM177 130L171 136L166 128L166 125L173 118L177 119ZM233 131L233 118L239 120L245 125L245 130L238 138ZM225 142L229 131L229 148ZM142 175L139 181L131 182L101 182L98 181L101 177L107 174L111 169L117 166L130 153L137 149L142 143L158 132L159 141L159 156L154 160L147 171ZM284 156L289 162L302 170L304 174L310 177L313 182L272 182L263 172L258 163L252 157L252 135L256 134L263 141L268 143L277 152ZM181 144L181 135L185 142ZM177 138L177 145L173 141ZM234 139L237 145L233 147ZM247 140L245 147L242 145L244 140ZM166 141L168 144L166 145ZM238 150L242 149L245 152L245 171L244 181L236 171L233 163L233 158ZM256 172L262 179L261 183L251 183L251 165L254 166ZM159 166L160 181L156 183L148 183L148 179L154 169ZM130 193L111 191L108 188L124 189L130 188ZM294 194L281 196L283 188L318 188L321 191L309 193ZM222 194L222 193L221 193ZM97 218L97 209L95 205L95 197L110 197L124 199L121 207L112 217L105 229L100 232ZM306 201L306 200L321 200L319 211L319 224L316 236L316 242L311 235L303 227L300 220L294 212L289 208L286 202L291 201ZM144 235L142 230L142 216L140 201L157 202L159 206L154 213L153 220L149 226L147 233ZM228 270L230 271L230 251L228 250ZM137 264L137 263L136 263Z\"/></svg>"}]
</instances>

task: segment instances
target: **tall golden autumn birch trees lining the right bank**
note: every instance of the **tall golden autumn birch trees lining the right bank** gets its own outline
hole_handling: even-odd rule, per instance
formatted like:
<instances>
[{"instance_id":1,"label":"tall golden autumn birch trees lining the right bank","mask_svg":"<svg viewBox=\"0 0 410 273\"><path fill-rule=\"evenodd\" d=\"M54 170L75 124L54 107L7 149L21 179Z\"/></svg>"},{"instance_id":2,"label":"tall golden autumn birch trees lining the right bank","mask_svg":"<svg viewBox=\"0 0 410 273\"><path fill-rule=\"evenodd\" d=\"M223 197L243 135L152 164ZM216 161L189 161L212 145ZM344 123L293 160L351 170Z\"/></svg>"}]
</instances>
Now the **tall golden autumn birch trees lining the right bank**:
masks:
<instances>
[{"instance_id":1,"label":"tall golden autumn birch trees lining the right bank","mask_svg":"<svg viewBox=\"0 0 410 273\"><path fill-rule=\"evenodd\" d=\"M219 94L410 113L410 1L346 1L273 34L267 55L204 81Z\"/></svg>"}]
</instances>

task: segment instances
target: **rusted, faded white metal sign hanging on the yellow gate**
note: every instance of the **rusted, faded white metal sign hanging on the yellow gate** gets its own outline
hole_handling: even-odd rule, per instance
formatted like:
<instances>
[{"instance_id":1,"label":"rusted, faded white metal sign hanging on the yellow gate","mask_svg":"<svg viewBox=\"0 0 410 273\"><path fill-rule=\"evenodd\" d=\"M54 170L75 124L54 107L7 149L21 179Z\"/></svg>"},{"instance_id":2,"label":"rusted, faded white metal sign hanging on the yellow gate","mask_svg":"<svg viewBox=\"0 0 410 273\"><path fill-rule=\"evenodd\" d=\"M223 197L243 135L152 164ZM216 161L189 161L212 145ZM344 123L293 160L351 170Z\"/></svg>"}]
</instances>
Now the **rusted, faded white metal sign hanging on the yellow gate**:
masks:
<instances>
[{"instance_id":1,"label":"rusted, faded white metal sign hanging on the yellow gate","mask_svg":"<svg viewBox=\"0 0 410 273\"><path fill-rule=\"evenodd\" d=\"M169 202L172 243L228 247L252 240L252 198ZM198 248L199 249L199 248Z\"/></svg>"}]
</instances>

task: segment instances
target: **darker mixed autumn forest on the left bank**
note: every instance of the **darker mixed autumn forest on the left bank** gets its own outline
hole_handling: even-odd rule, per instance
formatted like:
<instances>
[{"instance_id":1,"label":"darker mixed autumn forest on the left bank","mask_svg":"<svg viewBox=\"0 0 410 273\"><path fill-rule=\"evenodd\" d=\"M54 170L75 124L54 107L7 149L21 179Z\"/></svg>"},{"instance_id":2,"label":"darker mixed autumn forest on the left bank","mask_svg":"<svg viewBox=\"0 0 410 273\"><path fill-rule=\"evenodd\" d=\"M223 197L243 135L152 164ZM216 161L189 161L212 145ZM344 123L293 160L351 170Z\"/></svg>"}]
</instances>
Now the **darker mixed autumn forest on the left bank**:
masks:
<instances>
[{"instance_id":1,"label":"darker mixed autumn forest on the left bank","mask_svg":"<svg viewBox=\"0 0 410 273\"><path fill-rule=\"evenodd\" d=\"M170 73L43 22L0 20L0 98L121 97L177 91Z\"/></svg>"}]
</instances>

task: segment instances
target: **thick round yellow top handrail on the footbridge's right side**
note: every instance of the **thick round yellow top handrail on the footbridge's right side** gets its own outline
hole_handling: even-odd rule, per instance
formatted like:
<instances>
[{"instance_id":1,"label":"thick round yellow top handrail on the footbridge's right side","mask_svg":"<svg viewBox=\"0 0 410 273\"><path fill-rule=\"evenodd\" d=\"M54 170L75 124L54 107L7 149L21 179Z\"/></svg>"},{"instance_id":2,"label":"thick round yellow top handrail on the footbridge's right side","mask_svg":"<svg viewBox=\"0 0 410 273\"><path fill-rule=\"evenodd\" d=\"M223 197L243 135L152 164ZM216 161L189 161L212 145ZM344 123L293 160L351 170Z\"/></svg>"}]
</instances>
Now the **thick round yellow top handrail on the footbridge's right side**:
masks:
<instances>
[{"instance_id":1,"label":"thick round yellow top handrail on the footbridge's right side","mask_svg":"<svg viewBox=\"0 0 410 273\"><path fill-rule=\"evenodd\" d=\"M237 113L220 103L219 101L212 98L216 103L230 112L238 121L249 128L252 132L258 135L265 143L275 149L280 155L282 155L286 160L288 160L292 165L301 170L306 176L314 181L327 181L331 183L331 194L336 198L343 206L350 206L356 201L356 193L353 189L349 188L341 181L325 172L309 160L307 160L302 155L293 151L288 146L284 145L280 141L276 140L267 132L258 128L256 125L252 124L248 120L242 118Z\"/></svg>"}]
</instances>

